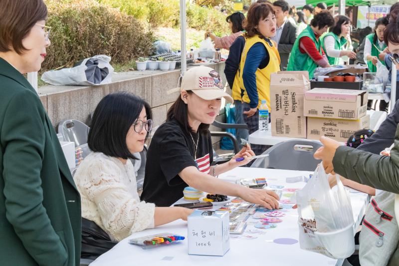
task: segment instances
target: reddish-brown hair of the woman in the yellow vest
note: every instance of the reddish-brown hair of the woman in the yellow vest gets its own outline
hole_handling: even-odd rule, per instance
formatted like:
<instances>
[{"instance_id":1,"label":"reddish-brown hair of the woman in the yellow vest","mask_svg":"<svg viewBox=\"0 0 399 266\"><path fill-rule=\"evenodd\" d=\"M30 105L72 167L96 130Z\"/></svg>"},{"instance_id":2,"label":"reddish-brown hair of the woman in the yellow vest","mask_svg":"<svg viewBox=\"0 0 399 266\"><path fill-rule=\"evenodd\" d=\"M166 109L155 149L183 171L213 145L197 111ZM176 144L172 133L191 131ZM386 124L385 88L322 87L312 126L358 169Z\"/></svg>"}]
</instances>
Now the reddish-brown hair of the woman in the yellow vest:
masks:
<instances>
[{"instance_id":1,"label":"reddish-brown hair of the woman in the yellow vest","mask_svg":"<svg viewBox=\"0 0 399 266\"><path fill-rule=\"evenodd\" d=\"M273 5L269 3L256 2L251 4L244 24L244 29L246 30L245 37L250 38L255 35L264 37L255 27L259 24L260 20L265 19L270 13L274 15Z\"/></svg>"}]
</instances>

